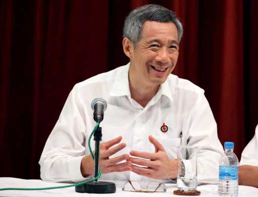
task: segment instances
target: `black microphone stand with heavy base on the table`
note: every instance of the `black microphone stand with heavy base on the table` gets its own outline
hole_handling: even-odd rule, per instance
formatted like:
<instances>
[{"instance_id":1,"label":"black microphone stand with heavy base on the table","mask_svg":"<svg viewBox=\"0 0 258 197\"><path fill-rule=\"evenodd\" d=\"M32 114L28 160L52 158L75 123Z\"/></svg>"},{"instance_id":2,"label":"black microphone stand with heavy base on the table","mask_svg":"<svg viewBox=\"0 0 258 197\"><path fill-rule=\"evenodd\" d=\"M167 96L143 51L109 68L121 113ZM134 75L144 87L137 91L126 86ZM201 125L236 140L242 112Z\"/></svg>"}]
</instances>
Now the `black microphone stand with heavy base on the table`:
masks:
<instances>
[{"instance_id":1,"label":"black microphone stand with heavy base on the table","mask_svg":"<svg viewBox=\"0 0 258 197\"><path fill-rule=\"evenodd\" d=\"M94 132L95 140L95 156L94 156L94 177L96 178L99 172L99 142L102 140L102 128L98 126ZM98 181L85 183L75 187L77 192L81 193L114 193L116 190L115 184L112 182Z\"/></svg>"}]
</instances>

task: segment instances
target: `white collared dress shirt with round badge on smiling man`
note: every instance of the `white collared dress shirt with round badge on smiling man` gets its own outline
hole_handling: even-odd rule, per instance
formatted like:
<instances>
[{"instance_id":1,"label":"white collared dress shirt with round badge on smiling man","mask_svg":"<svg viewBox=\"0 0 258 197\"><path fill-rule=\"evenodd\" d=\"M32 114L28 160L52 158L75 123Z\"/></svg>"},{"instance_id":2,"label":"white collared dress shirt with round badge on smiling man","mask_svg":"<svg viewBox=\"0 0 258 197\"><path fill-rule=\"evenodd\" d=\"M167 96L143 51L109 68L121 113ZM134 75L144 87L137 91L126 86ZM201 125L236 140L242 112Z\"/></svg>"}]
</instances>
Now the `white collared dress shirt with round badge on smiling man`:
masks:
<instances>
[{"instance_id":1,"label":"white collared dress shirt with round badge on smiling man","mask_svg":"<svg viewBox=\"0 0 258 197\"><path fill-rule=\"evenodd\" d=\"M119 135L127 145L113 157L131 150L155 152L148 136L153 135L164 147L169 158L176 159L176 146L199 147L198 182L215 183L223 147L218 139L214 120L204 90L188 80L170 74L145 108L131 98L128 69L118 67L76 84L70 92L59 119L50 133L39 164L41 178L48 181L83 181L81 160L89 155L88 138L95 122L91 102L101 97L107 102L102 127L102 141ZM167 132L161 131L165 123ZM94 150L95 142L91 141ZM133 172L108 173L102 180L153 179Z\"/></svg>"}]
</instances>

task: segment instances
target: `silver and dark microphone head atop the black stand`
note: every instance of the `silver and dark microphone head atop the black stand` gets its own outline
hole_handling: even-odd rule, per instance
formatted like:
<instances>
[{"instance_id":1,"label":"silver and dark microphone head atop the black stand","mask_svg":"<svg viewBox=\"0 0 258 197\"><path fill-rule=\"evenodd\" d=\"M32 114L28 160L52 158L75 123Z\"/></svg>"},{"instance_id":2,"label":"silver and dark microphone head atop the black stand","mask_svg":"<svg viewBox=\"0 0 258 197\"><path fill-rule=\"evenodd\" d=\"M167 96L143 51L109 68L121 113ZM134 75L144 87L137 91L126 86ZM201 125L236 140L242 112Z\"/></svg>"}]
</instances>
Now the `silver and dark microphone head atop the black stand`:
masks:
<instances>
[{"instance_id":1,"label":"silver and dark microphone head atop the black stand","mask_svg":"<svg viewBox=\"0 0 258 197\"><path fill-rule=\"evenodd\" d=\"M104 117L104 111L107 109L107 102L103 98L95 98L91 103L91 109L94 111L93 119L101 122Z\"/></svg>"}]
</instances>

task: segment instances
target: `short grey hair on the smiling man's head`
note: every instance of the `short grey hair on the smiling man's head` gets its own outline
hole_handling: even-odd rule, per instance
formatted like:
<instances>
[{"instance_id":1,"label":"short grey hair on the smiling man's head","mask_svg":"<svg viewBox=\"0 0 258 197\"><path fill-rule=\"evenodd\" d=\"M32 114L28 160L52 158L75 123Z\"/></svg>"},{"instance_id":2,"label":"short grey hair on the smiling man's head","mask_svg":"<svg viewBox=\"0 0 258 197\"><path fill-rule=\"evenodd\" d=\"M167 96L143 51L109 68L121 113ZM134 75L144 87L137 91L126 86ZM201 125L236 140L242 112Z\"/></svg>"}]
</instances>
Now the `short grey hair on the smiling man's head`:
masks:
<instances>
[{"instance_id":1,"label":"short grey hair on the smiling man's head","mask_svg":"<svg viewBox=\"0 0 258 197\"><path fill-rule=\"evenodd\" d=\"M129 38L134 46L137 46L141 39L143 24L146 21L156 21L161 23L172 22L175 24L180 42L183 35L183 27L176 14L163 6L149 4L136 8L128 14L124 21L123 38Z\"/></svg>"}]
</instances>

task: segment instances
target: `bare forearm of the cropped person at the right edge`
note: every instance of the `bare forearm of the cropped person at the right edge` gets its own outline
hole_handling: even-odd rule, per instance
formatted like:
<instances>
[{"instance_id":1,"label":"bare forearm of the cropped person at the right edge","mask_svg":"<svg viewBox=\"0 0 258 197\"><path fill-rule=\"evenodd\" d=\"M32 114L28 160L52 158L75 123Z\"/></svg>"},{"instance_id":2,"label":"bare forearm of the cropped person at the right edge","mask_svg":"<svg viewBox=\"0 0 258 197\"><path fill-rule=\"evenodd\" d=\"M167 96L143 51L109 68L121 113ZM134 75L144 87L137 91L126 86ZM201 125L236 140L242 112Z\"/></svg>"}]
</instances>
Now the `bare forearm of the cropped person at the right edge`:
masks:
<instances>
[{"instance_id":1,"label":"bare forearm of the cropped person at the right edge","mask_svg":"<svg viewBox=\"0 0 258 197\"><path fill-rule=\"evenodd\" d=\"M243 165L239 166L238 182L239 185L258 187L258 166Z\"/></svg>"}]
</instances>

